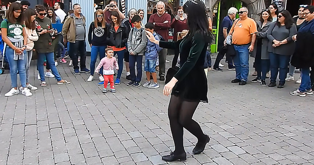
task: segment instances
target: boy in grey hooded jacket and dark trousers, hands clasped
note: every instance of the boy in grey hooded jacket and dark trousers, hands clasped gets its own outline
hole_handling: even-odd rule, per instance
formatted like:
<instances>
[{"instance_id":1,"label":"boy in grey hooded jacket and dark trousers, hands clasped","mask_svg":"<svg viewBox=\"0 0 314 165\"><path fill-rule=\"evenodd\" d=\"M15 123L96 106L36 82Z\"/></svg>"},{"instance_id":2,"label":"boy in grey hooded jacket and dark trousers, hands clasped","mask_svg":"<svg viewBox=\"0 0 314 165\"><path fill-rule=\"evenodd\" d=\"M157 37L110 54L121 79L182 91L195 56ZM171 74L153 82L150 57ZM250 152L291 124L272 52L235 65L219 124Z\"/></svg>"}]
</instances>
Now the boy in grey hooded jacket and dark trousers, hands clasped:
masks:
<instances>
[{"instance_id":1,"label":"boy in grey hooded jacket and dark trousers, hands clasped","mask_svg":"<svg viewBox=\"0 0 314 165\"><path fill-rule=\"evenodd\" d=\"M128 86L141 86L142 79L142 60L145 54L145 47L147 43L145 29L141 26L141 17L135 15L132 20L134 27L130 31L127 40L127 49L130 52L129 63L132 80L127 84ZM135 63L137 68L137 75L135 74Z\"/></svg>"}]
</instances>

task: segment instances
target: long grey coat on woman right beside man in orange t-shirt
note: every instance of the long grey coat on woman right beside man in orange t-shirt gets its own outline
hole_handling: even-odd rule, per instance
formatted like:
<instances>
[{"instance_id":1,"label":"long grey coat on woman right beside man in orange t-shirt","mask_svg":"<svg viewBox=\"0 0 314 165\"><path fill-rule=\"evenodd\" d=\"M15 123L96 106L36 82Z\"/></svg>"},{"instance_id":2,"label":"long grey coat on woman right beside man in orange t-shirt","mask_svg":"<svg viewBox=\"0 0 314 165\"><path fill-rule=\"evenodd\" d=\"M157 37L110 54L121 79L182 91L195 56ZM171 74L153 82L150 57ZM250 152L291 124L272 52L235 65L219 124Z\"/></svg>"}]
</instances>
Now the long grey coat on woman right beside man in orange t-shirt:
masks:
<instances>
[{"instance_id":1,"label":"long grey coat on woman right beside man in orange t-shirt","mask_svg":"<svg viewBox=\"0 0 314 165\"><path fill-rule=\"evenodd\" d=\"M257 33L256 33L256 40L262 38L262 60L269 59L269 52L268 52L268 38L267 38L267 30L269 26L272 24L272 22L267 21L266 25L262 28L263 23L261 21L258 21L257 23ZM255 41L254 50L251 53L251 57L256 56L257 52L257 41Z\"/></svg>"}]
</instances>

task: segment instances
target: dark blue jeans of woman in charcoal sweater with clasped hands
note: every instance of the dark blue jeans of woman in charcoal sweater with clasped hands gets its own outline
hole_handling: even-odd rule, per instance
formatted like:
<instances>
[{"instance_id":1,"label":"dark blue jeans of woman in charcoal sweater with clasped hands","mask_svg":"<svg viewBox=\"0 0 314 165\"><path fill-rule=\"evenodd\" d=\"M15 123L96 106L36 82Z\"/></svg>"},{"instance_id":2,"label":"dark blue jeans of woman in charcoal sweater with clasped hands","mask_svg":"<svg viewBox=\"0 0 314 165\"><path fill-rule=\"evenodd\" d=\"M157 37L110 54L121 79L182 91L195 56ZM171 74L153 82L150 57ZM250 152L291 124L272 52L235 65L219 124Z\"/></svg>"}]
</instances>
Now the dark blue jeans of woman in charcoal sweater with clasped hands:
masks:
<instances>
[{"instance_id":1,"label":"dark blue jeans of woman in charcoal sweater with clasped hands","mask_svg":"<svg viewBox=\"0 0 314 165\"><path fill-rule=\"evenodd\" d=\"M279 70L279 84L284 84L286 82L286 77L288 73L288 64L290 61L290 56L280 55L275 53L269 53L270 60L270 82L276 82Z\"/></svg>"}]
</instances>

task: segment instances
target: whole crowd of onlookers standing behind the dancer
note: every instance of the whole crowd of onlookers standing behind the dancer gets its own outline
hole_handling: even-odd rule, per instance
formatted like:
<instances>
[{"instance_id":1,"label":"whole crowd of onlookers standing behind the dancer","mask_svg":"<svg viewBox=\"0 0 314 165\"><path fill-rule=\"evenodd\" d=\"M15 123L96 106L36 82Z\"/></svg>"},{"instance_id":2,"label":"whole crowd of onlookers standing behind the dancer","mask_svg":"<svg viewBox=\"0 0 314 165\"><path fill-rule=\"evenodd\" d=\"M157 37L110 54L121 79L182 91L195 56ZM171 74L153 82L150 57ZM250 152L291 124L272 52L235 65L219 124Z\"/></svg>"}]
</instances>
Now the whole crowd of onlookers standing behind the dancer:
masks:
<instances>
[{"instance_id":1,"label":"whole crowd of onlookers standing behind the dancer","mask_svg":"<svg viewBox=\"0 0 314 165\"><path fill-rule=\"evenodd\" d=\"M74 4L73 10L68 13L64 12L64 5L60 2L56 2L53 7L36 5L35 10L28 6L28 1L12 3L6 19L1 22L3 54L10 66L12 82L12 89L5 96L18 94L19 91L25 96L32 96L30 90L37 90L29 82L29 67L34 51L37 53L41 86L47 86L45 77L55 77L57 84L69 84L67 80L62 80L56 66L58 58L60 63L68 63L66 59L70 58L69 66L73 66L74 74L90 74L87 82L99 79L98 85L104 85L104 93L108 91L109 84L110 91L116 92L115 85L121 84L124 65L126 79L130 80L128 86L141 86L144 65L147 81L143 87L159 88L157 72L159 81L164 81L165 66L169 62L166 60L168 51L150 42L147 32L151 32L156 40L168 41L169 28L173 28L173 41L176 42L187 35L189 30L183 7L178 7L177 14L171 19L170 14L165 12L163 2L157 3L157 13L152 14L148 23L143 25L143 9L132 8L125 16L118 9L117 2L112 0L103 10L95 11L95 20L90 23L89 29L85 28L86 19L79 4ZM279 12L278 7L271 4L262 10L258 22L249 18L248 13L246 7L239 11L233 7L228 10L222 21L222 29L219 30L219 36L225 40L219 40L219 53L213 70L223 71L220 67L224 65L220 61L226 55L228 70L236 71L236 78L231 82L246 85L251 56L255 58L253 76L256 76L251 82L267 86L266 79L270 78L268 86L274 87L277 86L279 73L277 87L283 88L286 81L294 80L295 70L300 69L301 77L296 81L300 88L290 94L312 95L313 46L310 45L312 42L306 41L314 34L314 7L300 5L299 14L292 17L289 11ZM210 17L208 23L209 30L212 30ZM91 47L90 70L86 66L86 37ZM96 65L98 56L100 63ZM179 61L179 50L174 50L171 67L180 67ZM211 67L210 53L207 52L203 66L206 75ZM20 87L17 73L20 76Z\"/></svg>"}]
</instances>

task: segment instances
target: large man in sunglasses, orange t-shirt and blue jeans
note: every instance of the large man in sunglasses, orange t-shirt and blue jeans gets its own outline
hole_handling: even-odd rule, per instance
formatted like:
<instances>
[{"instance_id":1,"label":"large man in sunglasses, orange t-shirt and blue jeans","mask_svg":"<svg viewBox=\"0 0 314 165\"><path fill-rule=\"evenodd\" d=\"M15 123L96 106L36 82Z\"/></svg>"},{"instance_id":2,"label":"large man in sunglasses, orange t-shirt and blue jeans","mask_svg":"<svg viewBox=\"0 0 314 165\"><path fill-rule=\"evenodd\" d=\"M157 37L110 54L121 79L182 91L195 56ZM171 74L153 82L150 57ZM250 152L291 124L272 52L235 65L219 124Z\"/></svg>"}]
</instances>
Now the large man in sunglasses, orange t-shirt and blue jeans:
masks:
<instances>
[{"instance_id":1,"label":"large man in sunglasses, orange t-shirt and blue jeans","mask_svg":"<svg viewBox=\"0 0 314 165\"><path fill-rule=\"evenodd\" d=\"M257 27L254 19L247 16L248 9L239 9L239 19L232 25L229 35L232 35L232 44L236 51L233 63L236 66L236 79L232 83L246 85L249 75L249 51L252 52L256 40ZM226 45L226 40L224 42Z\"/></svg>"}]
</instances>

